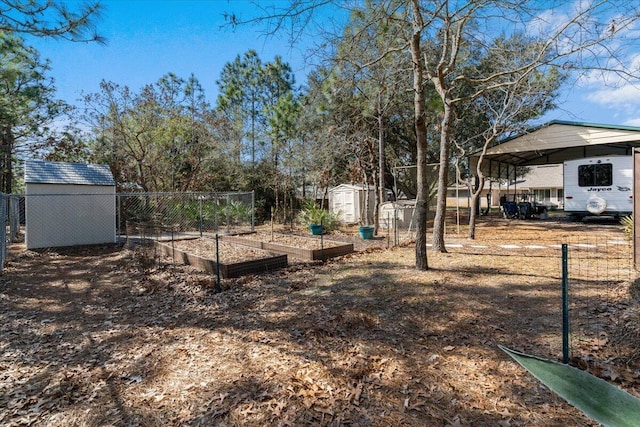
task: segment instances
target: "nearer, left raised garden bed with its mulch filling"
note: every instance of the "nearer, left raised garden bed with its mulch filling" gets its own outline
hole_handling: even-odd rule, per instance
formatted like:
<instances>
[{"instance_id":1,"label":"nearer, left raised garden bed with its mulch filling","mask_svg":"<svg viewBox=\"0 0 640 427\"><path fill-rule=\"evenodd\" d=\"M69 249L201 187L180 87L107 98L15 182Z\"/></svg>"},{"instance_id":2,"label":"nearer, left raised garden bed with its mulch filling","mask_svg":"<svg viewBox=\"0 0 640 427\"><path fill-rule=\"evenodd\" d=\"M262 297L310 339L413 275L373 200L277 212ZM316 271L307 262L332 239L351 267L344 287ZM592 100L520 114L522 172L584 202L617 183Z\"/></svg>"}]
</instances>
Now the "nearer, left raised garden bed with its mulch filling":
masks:
<instances>
[{"instance_id":1,"label":"nearer, left raised garden bed with its mulch filling","mask_svg":"<svg viewBox=\"0 0 640 427\"><path fill-rule=\"evenodd\" d=\"M155 244L162 255L172 257L182 264L192 265L212 274L217 274L219 268L223 279L273 271L287 266L286 255L274 255L262 249L225 242L218 242L217 263L216 241L211 239L175 240L173 243Z\"/></svg>"}]
</instances>

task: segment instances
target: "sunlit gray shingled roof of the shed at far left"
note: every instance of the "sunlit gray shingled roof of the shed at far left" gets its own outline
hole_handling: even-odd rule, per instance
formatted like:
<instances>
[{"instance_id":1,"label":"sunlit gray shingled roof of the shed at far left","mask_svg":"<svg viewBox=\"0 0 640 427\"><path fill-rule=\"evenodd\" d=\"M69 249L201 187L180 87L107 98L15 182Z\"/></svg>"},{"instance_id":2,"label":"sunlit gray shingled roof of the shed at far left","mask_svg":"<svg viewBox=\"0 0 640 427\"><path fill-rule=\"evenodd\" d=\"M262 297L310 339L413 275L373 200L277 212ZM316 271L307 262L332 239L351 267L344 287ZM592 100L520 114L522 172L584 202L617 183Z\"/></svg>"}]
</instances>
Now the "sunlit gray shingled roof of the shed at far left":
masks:
<instances>
[{"instance_id":1,"label":"sunlit gray shingled roof of the shed at far left","mask_svg":"<svg viewBox=\"0 0 640 427\"><path fill-rule=\"evenodd\" d=\"M26 184L115 185L107 165L45 162L27 160L24 166Z\"/></svg>"}]
</instances>

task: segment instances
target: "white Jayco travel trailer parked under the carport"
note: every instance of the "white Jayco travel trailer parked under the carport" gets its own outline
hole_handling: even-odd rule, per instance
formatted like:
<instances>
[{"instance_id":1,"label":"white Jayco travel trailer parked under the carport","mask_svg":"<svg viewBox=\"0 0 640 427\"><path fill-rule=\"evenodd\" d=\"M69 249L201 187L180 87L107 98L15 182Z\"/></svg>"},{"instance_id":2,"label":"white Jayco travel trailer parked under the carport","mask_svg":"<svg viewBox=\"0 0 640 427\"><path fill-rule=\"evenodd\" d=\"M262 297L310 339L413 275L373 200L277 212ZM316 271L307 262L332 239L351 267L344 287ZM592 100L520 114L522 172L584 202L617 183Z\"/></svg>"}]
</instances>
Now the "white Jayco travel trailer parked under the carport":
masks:
<instances>
[{"instance_id":1,"label":"white Jayco travel trailer parked under the carport","mask_svg":"<svg viewBox=\"0 0 640 427\"><path fill-rule=\"evenodd\" d=\"M631 214L632 157L590 157L564 162L564 211L578 218Z\"/></svg>"}]
</instances>

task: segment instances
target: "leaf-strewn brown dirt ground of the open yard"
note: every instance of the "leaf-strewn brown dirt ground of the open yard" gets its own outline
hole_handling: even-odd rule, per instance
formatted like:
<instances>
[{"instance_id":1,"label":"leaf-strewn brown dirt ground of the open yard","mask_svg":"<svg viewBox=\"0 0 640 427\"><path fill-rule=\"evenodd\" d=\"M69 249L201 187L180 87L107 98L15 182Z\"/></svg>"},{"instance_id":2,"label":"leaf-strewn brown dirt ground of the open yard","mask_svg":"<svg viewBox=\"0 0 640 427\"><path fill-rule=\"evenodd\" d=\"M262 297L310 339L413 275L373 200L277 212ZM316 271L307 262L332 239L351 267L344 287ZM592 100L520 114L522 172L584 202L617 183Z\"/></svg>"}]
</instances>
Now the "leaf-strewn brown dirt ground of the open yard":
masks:
<instances>
[{"instance_id":1,"label":"leaf-strewn brown dirt ground of the open yard","mask_svg":"<svg viewBox=\"0 0 640 427\"><path fill-rule=\"evenodd\" d=\"M14 252L0 276L0 424L597 425L497 345L557 360L558 244L623 242L621 227L482 218L476 240L464 232L429 252L428 271L411 245L369 248L221 293L142 251ZM604 247L629 270L628 245ZM624 277L589 314L617 327L577 343L574 362L639 395Z\"/></svg>"}]
</instances>

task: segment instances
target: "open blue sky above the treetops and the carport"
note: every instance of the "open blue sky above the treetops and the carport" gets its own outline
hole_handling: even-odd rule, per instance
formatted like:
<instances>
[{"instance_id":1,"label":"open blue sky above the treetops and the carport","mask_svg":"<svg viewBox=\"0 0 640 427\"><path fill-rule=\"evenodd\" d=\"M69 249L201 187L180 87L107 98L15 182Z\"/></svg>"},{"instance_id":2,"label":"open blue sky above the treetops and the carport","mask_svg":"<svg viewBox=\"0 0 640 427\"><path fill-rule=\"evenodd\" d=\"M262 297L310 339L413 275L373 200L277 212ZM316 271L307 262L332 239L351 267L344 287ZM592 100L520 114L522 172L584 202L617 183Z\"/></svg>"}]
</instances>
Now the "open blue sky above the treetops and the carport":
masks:
<instances>
[{"instance_id":1,"label":"open blue sky above the treetops and the carport","mask_svg":"<svg viewBox=\"0 0 640 427\"><path fill-rule=\"evenodd\" d=\"M275 0L275 2L284 0ZM70 5L80 4L69 1ZM103 0L98 22L106 45L56 40L29 40L51 61L58 97L77 103L82 93L99 90L109 80L138 90L172 72L200 81L209 101L217 97L216 80L227 62L255 49L263 62L280 55L288 62L297 84L305 83L313 64L306 58L310 37L292 47L286 35L266 37L261 28L225 26L223 14L243 19L259 11L249 0ZM336 11L336 15L339 15ZM640 56L640 52L638 52ZM630 61L632 58L630 58ZM640 89L630 85L613 90L598 79L573 82L558 99L561 109L545 120L640 126Z\"/></svg>"}]
</instances>

